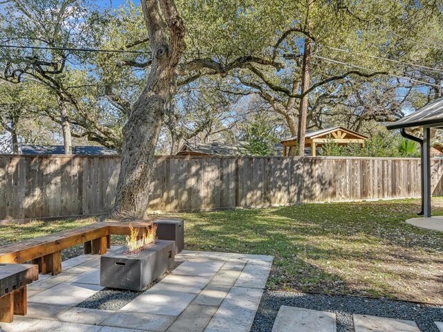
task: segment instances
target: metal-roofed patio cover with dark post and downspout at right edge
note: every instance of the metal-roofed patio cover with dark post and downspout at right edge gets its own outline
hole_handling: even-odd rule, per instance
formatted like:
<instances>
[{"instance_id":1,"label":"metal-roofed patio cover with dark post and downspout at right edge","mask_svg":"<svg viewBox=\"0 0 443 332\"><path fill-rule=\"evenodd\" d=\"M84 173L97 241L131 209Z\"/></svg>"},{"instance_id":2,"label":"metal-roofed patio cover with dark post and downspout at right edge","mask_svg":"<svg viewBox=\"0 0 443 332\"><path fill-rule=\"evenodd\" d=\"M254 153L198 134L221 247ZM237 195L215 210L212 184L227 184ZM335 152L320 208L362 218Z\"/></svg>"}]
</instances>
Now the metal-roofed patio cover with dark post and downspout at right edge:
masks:
<instances>
[{"instance_id":1,"label":"metal-roofed patio cover with dark post and downspout at right edge","mask_svg":"<svg viewBox=\"0 0 443 332\"><path fill-rule=\"evenodd\" d=\"M400 129L401 136L420 144L422 151L422 212L419 214L431 218L431 128L443 129L443 98L428 103L421 109L392 124L388 124L386 127L390 130ZM406 133L406 128L413 127L423 128L423 138ZM436 219L435 222L443 225L441 219Z\"/></svg>"}]
</instances>

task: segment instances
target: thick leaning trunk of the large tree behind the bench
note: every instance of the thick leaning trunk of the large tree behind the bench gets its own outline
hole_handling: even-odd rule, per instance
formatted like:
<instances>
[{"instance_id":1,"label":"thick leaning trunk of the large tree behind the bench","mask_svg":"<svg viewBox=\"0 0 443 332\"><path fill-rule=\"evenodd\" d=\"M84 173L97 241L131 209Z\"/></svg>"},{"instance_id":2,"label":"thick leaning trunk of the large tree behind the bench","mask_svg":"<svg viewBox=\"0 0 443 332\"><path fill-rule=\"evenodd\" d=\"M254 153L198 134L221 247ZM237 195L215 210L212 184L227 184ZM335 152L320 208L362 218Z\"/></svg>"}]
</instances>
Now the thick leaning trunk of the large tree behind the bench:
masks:
<instances>
[{"instance_id":1,"label":"thick leaning trunk of the large tree behind the bench","mask_svg":"<svg viewBox=\"0 0 443 332\"><path fill-rule=\"evenodd\" d=\"M186 48L186 29L174 0L142 0L141 5L152 65L145 89L123 127L120 176L111 214L117 219L139 219L145 215L161 122L176 89L175 70Z\"/></svg>"}]
</instances>

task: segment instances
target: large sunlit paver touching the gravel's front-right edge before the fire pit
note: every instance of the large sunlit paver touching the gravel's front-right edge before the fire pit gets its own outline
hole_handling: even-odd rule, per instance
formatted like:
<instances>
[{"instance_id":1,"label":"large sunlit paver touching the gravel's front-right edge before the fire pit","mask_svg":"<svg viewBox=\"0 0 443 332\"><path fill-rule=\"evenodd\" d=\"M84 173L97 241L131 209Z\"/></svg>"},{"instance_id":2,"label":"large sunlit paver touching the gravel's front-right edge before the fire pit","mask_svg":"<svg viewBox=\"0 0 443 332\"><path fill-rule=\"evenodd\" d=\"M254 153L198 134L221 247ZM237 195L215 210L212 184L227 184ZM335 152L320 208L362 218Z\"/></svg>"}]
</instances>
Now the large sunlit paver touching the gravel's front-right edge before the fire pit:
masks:
<instances>
[{"instance_id":1,"label":"large sunlit paver touching the gravel's front-right edge before the fire pit","mask_svg":"<svg viewBox=\"0 0 443 332\"><path fill-rule=\"evenodd\" d=\"M121 310L178 316L195 298L195 294L159 291L153 288L129 302Z\"/></svg>"}]
</instances>

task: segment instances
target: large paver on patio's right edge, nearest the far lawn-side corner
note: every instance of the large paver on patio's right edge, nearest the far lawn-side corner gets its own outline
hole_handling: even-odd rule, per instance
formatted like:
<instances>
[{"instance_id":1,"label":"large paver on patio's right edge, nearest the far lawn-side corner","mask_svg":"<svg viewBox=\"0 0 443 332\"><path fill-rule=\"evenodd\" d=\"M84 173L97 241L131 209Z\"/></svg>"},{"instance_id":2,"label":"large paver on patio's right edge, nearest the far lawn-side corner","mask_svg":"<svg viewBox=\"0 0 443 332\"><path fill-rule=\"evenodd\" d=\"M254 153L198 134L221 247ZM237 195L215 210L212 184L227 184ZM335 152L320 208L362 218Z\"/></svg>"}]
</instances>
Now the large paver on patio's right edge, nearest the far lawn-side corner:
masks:
<instances>
[{"instance_id":1,"label":"large paver on patio's right edge, nearest the far lawn-side corner","mask_svg":"<svg viewBox=\"0 0 443 332\"><path fill-rule=\"evenodd\" d=\"M271 272L269 261L248 261L239 275L236 287L265 288Z\"/></svg>"}]
</instances>

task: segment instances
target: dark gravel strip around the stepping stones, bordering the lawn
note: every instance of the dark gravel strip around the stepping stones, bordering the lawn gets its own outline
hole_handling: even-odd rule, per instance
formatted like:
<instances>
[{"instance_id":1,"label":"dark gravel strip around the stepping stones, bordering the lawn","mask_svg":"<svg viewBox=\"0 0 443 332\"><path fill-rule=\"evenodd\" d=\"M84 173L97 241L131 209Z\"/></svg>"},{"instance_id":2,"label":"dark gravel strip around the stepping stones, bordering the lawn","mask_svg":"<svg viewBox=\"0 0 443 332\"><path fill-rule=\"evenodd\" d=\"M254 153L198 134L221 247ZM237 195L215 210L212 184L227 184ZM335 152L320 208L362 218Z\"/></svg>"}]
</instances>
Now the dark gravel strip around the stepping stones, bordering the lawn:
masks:
<instances>
[{"instance_id":1,"label":"dark gravel strip around the stepping stones, bordering the lawn","mask_svg":"<svg viewBox=\"0 0 443 332\"><path fill-rule=\"evenodd\" d=\"M439 332L434 322L443 322L443 306L390 299L265 291L251 332L271 331L278 309L283 305L334 312L337 317L337 332L354 332L354 313L413 320L422 332Z\"/></svg>"}]
</instances>

